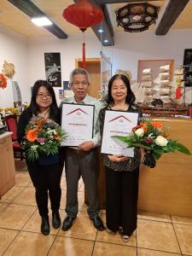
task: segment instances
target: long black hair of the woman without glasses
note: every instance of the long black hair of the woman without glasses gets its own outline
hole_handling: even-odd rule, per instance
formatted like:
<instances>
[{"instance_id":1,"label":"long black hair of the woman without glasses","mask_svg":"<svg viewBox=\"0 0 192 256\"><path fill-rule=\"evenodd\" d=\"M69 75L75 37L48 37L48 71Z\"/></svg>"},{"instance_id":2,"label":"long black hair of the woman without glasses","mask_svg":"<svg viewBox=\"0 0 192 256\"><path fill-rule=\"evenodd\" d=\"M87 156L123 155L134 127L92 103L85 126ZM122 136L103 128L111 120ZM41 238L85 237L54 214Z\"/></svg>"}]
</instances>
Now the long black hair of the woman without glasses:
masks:
<instances>
[{"instance_id":1,"label":"long black hair of the woman without glasses","mask_svg":"<svg viewBox=\"0 0 192 256\"><path fill-rule=\"evenodd\" d=\"M108 99L107 99L107 103L108 104L112 104L114 102L113 97L111 95L111 90L112 90L113 81L116 80L116 79L121 79L124 82L124 84L126 86L126 89L127 89L127 96L125 98L125 102L130 104L130 105L132 105L135 102L135 100L136 100L136 96L134 95L134 93L131 90L130 80L127 79L127 77L125 75L123 75L123 74L115 74L109 80L109 82L108 82Z\"/></svg>"}]
</instances>

